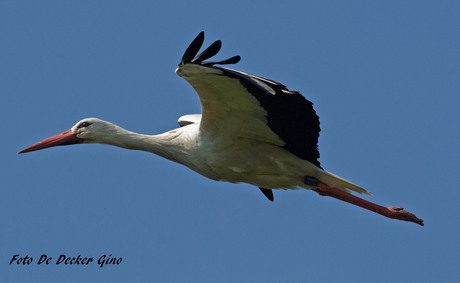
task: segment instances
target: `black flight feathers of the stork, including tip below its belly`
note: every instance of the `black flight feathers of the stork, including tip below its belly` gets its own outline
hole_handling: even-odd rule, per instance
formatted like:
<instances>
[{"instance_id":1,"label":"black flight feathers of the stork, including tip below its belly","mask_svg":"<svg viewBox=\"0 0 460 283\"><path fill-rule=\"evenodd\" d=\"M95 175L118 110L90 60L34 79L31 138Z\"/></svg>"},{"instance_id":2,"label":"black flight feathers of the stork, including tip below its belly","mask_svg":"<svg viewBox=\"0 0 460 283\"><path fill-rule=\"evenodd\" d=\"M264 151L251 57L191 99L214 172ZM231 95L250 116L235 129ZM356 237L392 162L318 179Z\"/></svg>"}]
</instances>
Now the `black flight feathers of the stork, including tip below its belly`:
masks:
<instances>
[{"instance_id":1,"label":"black flight feathers of the stork, including tip below its belly","mask_svg":"<svg viewBox=\"0 0 460 283\"><path fill-rule=\"evenodd\" d=\"M221 42L218 40L195 57L203 41L204 32L201 32L185 51L181 64L193 63L216 68L223 71L223 76L239 80L267 111L268 126L286 143L283 148L321 168L318 161L318 138L321 128L313 103L299 92L289 90L277 81L214 66L237 63L241 59L240 56L216 62L203 62L217 54L221 47ZM261 85L266 85L268 90ZM267 191L271 192L268 189L260 189L265 196L268 194Z\"/></svg>"}]
</instances>

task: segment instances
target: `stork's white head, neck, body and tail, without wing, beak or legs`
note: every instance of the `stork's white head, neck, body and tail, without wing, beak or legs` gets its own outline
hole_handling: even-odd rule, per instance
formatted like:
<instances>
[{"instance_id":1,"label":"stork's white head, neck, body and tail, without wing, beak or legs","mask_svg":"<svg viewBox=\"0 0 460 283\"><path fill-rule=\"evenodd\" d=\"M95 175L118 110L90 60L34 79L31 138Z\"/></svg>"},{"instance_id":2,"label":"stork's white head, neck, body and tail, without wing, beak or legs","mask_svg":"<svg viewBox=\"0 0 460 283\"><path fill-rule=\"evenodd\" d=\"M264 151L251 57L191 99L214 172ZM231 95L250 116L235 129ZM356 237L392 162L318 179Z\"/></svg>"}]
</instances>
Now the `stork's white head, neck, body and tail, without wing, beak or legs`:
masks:
<instances>
[{"instance_id":1,"label":"stork's white head, neck, body and tail, without wing, beak or legs","mask_svg":"<svg viewBox=\"0 0 460 283\"><path fill-rule=\"evenodd\" d=\"M82 122L91 125L77 129ZM215 136L202 130L200 123L160 135L142 135L97 118L87 118L72 131L84 143L149 151L217 181L244 182L267 189L310 189L303 178L313 176L331 187L369 194L277 145L232 134Z\"/></svg>"}]
</instances>

